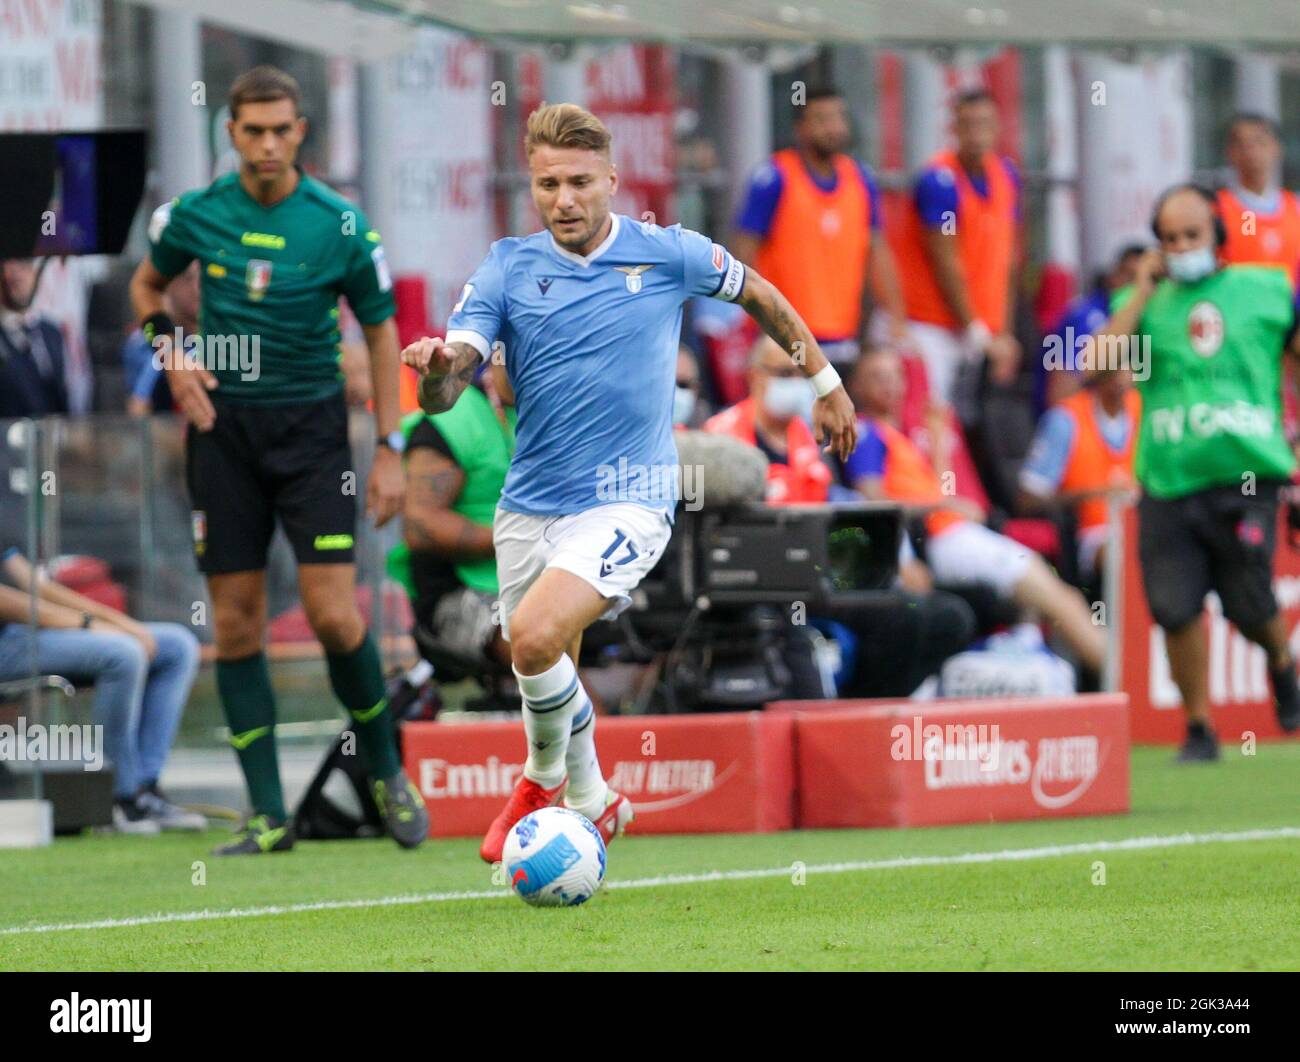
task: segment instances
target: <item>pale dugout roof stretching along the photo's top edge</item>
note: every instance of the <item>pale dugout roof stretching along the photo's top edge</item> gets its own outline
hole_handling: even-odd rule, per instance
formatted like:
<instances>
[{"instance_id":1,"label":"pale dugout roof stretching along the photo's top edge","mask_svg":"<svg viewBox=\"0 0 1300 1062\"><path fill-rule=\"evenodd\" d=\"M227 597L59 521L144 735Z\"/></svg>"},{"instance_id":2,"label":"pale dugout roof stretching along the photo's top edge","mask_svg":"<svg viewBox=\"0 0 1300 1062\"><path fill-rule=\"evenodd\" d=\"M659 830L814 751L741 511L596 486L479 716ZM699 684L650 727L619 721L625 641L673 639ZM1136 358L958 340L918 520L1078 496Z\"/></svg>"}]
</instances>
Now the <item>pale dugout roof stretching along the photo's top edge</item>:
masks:
<instances>
[{"instance_id":1,"label":"pale dugout roof stretching along the photo's top edge","mask_svg":"<svg viewBox=\"0 0 1300 1062\"><path fill-rule=\"evenodd\" d=\"M328 55L368 60L412 25L516 40L712 44L1300 43L1300 0L136 0Z\"/></svg>"}]
</instances>

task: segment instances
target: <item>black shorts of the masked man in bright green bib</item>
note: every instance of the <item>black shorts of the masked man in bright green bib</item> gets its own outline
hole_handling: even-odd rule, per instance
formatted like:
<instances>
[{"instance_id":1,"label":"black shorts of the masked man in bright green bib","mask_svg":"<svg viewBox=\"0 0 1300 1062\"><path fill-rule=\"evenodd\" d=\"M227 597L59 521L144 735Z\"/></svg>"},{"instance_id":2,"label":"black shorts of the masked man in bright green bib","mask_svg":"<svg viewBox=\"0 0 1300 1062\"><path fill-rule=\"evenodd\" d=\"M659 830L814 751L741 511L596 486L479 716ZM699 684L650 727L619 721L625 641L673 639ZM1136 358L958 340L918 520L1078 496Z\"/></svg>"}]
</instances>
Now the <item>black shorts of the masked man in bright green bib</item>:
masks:
<instances>
[{"instance_id":1,"label":"black shorts of the masked man in bright green bib","mask_svg":"<svg viewBox=\"0 0 1300 1062\"><path fill-rule=\"evenodd\" d=\"M1277 615L1273 550L1280 487L1261 480L1254 494L1219 486L1184 498L1143 495L1138 555L1156 623L1180 630L1201 614L1210 590L1240 630L1257 630Z\"/></svg>"}]
</instances>

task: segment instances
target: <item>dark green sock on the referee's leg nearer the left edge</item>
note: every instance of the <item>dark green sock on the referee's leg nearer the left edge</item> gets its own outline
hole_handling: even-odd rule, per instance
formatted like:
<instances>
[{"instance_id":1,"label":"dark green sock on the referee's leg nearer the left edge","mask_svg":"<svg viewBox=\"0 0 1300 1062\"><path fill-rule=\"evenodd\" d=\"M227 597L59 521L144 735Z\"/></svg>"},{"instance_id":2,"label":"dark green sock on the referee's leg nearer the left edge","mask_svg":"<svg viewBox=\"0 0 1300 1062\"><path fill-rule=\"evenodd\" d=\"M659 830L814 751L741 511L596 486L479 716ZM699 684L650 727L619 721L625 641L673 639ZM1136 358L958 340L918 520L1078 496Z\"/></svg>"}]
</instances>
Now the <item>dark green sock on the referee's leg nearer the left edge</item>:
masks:
<instances>
[{"instance_id":1,"label":"dark green sock on the referee's leg nearer the left edge","mask_svg":"<svg viewBox=\"0 0 1300 1062\"><path fill-rule=\"evenodd\" d=\"M276 692L270 688L265 654L217 660L217 693L254 814L285 822L289 816L276 762Z\"/></svg>"}]
</instances>

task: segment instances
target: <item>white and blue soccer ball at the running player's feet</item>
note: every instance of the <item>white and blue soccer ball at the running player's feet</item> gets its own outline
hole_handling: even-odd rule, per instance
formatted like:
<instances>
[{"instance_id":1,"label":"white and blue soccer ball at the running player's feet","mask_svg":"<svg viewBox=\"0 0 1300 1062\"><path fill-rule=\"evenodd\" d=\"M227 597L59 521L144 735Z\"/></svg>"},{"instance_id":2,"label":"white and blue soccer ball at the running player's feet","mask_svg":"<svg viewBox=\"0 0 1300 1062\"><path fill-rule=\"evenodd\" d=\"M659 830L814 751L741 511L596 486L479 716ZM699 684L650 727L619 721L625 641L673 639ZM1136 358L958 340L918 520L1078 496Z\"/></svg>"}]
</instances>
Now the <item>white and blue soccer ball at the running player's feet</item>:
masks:
<instances>
[{"instance_id":1,"label":"white and blue soccer ball at the running player's feet","mask_svg":"<svg viewBox=\"0 0 1300 1062\"><path fill-rule=\"evenodd\" d=\"M604 840L576 811L543 807L511 827L500 862L525 903L572 907L604 880Z\"/></svg>"}]
</instances>

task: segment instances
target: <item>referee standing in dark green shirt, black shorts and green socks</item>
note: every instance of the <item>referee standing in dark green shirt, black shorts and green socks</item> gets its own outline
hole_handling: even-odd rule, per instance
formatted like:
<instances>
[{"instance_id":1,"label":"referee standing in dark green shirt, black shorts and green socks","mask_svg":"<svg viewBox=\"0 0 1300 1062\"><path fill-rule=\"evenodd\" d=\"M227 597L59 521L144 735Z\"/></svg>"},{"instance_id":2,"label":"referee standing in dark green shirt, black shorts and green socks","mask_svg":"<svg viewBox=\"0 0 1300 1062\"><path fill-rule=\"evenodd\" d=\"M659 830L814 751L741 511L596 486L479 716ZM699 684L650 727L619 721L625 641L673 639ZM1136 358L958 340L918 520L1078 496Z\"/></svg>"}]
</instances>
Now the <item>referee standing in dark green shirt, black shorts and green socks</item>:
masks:
<instances>
[{"instance_id":1,"label":"referee standing in dark green shirt, black shorts and green socks","mask_svg":"<svg viewBox=\"0 0 1300 1062\"><path fill-rule=\"evenodd\" d=\"M380 655L356 607L355 473L338 360L344 295L370 351L380 446L367 511L384 524L403 490L391 281L380 235L361 212L294 165L307 131L298 99L298 83L272 66L235 81L226 129L239 170L160 207L151 253L131 278L146 335L161 342L173 335L162 291L192 260L203 270L198 348L207 357L188 364L198 359L186 337L187 356L176 351L166 364L177 408L190 421L186 473L194 549L212 597L217 689L254 809L221 855L294 845L263 653L266 547L277 519L389 831L413 848L429 829L424 801L398 762ZM229 356L240 342L256 343L252 359Z\"/></svg>"}]
</instances>

